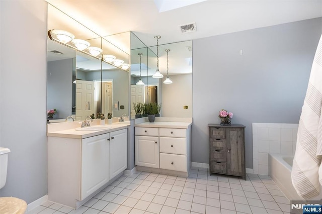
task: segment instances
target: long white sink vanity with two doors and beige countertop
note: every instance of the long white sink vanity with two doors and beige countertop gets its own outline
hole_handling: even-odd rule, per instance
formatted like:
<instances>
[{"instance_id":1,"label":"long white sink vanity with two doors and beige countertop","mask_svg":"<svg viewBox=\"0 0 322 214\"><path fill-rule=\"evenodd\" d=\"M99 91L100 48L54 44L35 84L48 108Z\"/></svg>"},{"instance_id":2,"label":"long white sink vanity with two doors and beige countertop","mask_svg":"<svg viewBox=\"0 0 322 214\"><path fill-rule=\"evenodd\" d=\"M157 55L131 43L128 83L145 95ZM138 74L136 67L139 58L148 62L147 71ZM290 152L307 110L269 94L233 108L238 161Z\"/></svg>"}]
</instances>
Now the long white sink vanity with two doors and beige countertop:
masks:
<instances>
[{"instance_id":1,"label":"long white sink vanity with two doors and beige countertop","mask_svg":"<svg viewBox=\"0 0 322 214\"><path fill-rule=\"evenodd\" d=\"M78 208L121 176L127 168L127 126L77 131L77 122L48 124L48 200Z\"/></svg>"}]
</instances>

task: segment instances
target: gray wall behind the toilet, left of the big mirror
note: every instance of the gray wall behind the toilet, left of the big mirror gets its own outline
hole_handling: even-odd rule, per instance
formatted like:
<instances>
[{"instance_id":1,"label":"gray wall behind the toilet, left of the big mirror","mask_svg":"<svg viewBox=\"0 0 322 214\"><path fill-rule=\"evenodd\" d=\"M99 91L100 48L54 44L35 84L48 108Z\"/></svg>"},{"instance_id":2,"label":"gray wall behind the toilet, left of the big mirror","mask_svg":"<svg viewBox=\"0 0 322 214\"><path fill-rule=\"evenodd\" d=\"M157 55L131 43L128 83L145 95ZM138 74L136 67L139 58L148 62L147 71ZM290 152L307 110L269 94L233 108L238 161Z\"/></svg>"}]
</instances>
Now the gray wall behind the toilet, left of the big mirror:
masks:
<instances>
[{"instance_id":1,"label":"gray wall behind the toilet, left of the big mirror","mask_svg":"<svg viewBox=\"0 0 322 214\"><path fill-rule=\"evenodd\" d=\"M0 147L10 148L0 196L47 194L45 1L0 1Z\"/></svg>"}]
</instances>

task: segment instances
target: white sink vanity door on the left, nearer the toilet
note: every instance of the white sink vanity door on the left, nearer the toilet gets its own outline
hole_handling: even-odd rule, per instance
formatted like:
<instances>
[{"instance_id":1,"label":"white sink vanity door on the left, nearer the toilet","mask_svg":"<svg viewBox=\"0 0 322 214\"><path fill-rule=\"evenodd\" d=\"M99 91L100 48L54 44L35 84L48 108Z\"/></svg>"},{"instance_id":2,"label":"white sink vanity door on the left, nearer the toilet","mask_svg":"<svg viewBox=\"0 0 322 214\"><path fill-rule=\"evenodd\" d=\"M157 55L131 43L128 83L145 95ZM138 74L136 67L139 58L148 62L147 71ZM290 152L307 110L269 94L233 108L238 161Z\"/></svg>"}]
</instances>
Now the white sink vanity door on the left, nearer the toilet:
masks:
<instances>
[{"instance_id":1,"label":"white sink vanity door on the left, nearer the toilet","mask_svg":"<svg viewBox=\"0 0 322 214\"><path fill-rule=\"evenodd\" d=\"M81 199L109 181L109 133L82 140Z\"/></svg>"}]
</instances>

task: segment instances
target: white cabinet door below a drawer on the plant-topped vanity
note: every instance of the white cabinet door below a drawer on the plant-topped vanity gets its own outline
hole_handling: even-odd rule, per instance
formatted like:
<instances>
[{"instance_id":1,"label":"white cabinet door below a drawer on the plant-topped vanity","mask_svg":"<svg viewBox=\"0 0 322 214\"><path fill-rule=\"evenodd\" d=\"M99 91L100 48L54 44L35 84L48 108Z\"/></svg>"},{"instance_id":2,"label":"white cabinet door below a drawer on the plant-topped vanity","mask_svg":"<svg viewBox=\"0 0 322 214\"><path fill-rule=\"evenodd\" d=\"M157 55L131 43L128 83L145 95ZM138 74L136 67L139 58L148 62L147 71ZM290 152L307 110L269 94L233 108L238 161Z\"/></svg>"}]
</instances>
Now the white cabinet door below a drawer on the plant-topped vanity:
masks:
<instances>
[{"instance_id":1,"label":"white cabinet door below a drawer on the plant-topped vanity","mask_svg":"<svg viewBox=\"0 0 322 214\"><path fill-rule=\"evenodd\" d=\"M135 135L135 165L159 168L159 138Z\"/></svg>"}]
</instances>

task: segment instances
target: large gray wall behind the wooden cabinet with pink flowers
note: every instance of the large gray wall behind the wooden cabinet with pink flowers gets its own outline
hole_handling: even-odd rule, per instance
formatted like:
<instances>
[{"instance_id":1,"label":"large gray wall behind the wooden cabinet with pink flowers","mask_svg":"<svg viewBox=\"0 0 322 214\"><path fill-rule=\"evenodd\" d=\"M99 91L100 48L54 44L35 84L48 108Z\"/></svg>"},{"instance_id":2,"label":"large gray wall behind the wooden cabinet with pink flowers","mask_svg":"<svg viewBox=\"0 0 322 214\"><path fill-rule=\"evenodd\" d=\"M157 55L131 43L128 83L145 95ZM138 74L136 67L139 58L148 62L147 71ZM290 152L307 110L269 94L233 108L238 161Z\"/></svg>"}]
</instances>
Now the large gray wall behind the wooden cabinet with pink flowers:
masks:
<instances>
[{"instance_id":1,"label":"large gray wall behind the wooden cabinet with pink flowers","mask_svg":"<svg viewBox=\"0 0 322 214\"><path fill-rule=\"evenodd\" d=\"M207 124L219 123L221 109L247 127L247 168L252 123L298 123L321 24L318 18L193 41L193 162L209 163Z\"/></svg>"}]
</instances>

